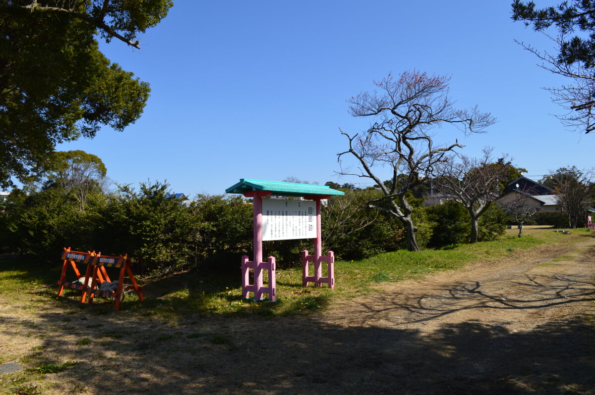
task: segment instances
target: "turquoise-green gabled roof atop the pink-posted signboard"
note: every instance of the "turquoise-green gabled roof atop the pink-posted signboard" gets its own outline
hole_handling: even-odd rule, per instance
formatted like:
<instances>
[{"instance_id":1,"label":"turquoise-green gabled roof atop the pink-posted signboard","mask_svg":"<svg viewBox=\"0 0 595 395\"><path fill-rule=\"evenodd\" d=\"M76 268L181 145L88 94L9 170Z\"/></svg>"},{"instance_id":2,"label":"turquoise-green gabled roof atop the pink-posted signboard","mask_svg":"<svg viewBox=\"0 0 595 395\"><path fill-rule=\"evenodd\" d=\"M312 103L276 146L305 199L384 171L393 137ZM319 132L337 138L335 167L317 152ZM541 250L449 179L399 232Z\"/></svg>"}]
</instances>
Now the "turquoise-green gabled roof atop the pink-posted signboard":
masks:
<instances>
[{"instance_id":1,"label":"turquoise-green gabled roof atop the pink-posted signboard","mask_svg":"<svg viewBox=\"0 0 595 395\"><path fill-rule=\"evenodd\" d=\"M252 191L271 191L275 196L304 197L309 195L345 195L328 185L296 184L295 182L262 181L240 178L240 182L225 190L228 194L245 194Z\"/></svg>"}]
</instances>

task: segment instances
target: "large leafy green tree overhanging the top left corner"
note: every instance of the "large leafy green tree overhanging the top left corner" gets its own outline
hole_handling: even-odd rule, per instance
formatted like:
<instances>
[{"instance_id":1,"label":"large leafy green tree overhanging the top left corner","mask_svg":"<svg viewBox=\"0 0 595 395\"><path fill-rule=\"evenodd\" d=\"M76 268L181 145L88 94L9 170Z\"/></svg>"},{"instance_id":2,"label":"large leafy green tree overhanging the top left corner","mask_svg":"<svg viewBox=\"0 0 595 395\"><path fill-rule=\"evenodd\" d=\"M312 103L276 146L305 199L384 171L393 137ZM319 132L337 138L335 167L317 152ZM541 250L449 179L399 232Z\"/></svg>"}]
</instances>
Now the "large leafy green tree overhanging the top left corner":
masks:
<instances>
[{"instance_id":1,"label":"large leafy green tree overhanging the top left corner","mask_svg":"<svg viewBox=\"0 0 595 395\"><path fill-rule=\"evenodd\" d=\"M8 0L0 5L0 186L25 181L56 144L122 131L141 115L147 83L112 64L96 36L134 37L170 0Z\"/></svg>"}]
</instances>

